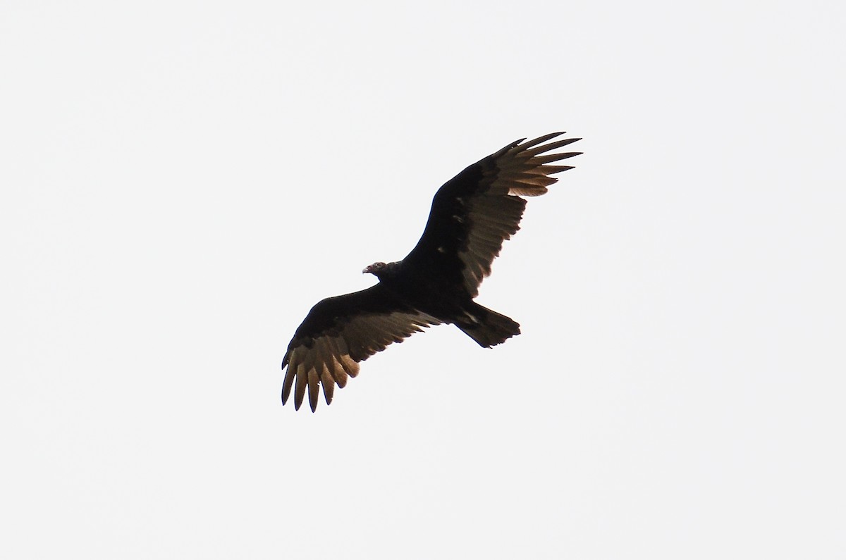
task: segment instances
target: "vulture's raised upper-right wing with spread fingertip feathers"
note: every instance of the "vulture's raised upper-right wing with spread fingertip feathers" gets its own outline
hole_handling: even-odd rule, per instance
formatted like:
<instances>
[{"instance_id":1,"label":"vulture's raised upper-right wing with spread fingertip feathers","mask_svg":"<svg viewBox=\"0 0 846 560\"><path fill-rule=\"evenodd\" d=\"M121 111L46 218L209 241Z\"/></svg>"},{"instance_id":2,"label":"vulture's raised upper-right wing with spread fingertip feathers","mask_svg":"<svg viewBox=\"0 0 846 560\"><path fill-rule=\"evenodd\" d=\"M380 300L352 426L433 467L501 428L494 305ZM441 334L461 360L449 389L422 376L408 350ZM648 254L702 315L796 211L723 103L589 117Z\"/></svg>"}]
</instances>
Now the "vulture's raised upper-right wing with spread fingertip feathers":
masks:
<instances>
[{"instance_id":1,"label":"vulture's raised upper-right wing with spread fingertip feathers","mask_svg":"<svg viewBox=\"0 0 846 560\"><path fill-rule=\"evenodd\" d=\"M520 197L543 195L558 181L550 175L573 168L545 165L581 153L547 153L581 140L548 142L563 134L518 140L450 179L432 200L426 229L404 265L461 284L475 298L503 241L519 229L526 204Z\"/></svg>"}]
</instances>

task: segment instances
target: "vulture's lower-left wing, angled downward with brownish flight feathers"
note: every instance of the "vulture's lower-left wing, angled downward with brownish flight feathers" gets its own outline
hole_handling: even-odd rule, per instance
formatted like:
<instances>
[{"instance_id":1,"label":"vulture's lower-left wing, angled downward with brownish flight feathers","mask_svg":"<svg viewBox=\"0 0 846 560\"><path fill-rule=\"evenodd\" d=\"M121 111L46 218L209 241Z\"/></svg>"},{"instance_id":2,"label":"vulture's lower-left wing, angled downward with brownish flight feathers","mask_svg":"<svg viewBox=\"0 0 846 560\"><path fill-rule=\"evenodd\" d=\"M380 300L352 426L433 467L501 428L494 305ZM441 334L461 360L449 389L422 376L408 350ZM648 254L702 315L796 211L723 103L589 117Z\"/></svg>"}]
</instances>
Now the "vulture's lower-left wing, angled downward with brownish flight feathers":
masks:
<instances>
[{"instance_id":1,"label":"vulture's lower-left wing, angled downward with brownish flight feathers","mask_svg":"<svg viewBox=\"0 0 846 560\"><path fill-rule=\"evenodd\" d=\"M422 327L440 322L402 304L382 284L323 299L311 308L288 344L282 360L283 369L288 366L282 404L288 401L294 387L294 408L299 410L308 388L314 412L321 386L326 404L332 403L335 385L344 387L347 376L357 376L360 361L390 343L403 342L421 332Z\"/></svg>"}]
</instances>

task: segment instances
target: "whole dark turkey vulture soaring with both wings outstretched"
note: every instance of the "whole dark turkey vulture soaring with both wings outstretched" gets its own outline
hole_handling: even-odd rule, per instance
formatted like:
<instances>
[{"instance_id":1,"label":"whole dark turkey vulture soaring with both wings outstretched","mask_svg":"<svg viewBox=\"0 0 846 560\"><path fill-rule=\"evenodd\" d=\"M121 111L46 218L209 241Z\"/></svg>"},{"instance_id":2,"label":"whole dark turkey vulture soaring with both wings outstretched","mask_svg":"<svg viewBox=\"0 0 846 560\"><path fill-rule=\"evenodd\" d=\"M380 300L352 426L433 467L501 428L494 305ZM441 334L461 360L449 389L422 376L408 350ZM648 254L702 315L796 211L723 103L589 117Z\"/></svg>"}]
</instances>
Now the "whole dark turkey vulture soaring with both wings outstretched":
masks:
<instances>
[{"instance_id":1,"label":"whole dark turkey vulture soaring with both wings outstretched","mask_svg":"<svg viewBox=\"0 0 846 560\"><path fill-rule=\"evenodd\" d=\"M563 134L517 140L464 169L437 190L415 248L402 261L374 262L362 271L379 283L312 307L282 361L288 367L282 404L294 381L295 409L308 389L314 412L321 386L332 403L335 385L358 375L360 361L423 327L452 323L483 348L519 334L517 322L473 299L503 241L519 229L521 197L543 195L558 181L550 175L572 168L545 164L581 153L548 153L580 140L549 141Z\"/></svg>"}]
</instances>

